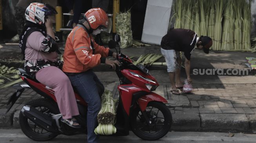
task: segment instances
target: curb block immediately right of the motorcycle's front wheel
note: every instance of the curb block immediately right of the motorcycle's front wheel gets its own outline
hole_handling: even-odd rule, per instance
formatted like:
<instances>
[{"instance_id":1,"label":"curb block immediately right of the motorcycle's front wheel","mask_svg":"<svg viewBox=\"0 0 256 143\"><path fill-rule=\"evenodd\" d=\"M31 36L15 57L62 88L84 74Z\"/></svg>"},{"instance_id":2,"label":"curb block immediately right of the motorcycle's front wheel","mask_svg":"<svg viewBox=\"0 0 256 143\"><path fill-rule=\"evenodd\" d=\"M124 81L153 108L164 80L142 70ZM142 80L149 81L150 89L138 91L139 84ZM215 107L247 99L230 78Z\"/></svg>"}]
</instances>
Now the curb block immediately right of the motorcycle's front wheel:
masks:
<instances>
[{"instance_id":1,"label":"curb block immediately right of the motorcycle's front wheel","mask_svg":"<svg viewBox=\"0 0 256 143\"><path fill-rule=\"evenodd\" d=\"M171 130L200 130L200 117L198 114L172 114Z\"/></svg>"}]
</instances>

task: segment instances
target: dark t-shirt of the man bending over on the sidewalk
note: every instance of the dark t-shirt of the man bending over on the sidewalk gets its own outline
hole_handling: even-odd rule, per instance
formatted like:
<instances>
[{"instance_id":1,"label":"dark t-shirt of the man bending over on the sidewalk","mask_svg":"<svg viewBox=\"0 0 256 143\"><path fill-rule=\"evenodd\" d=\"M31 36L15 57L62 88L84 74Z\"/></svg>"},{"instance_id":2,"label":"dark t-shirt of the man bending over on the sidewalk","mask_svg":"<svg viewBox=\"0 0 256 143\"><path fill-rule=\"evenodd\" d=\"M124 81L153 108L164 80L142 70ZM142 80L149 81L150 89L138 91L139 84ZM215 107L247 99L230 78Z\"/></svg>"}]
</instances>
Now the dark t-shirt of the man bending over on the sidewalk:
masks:
<instances>
[{"instance_id":1,"label":"dark t-shirt of the man bending over on the sidewalk","mask_svg":"<svg viewBox=\"0 0 256 143\"><path fill-rule=\"evenodd\" d=\"M190 60L191 53L194 51L197 34L189 29L170 29L163 36L161 47L165 50L176 50L184 52L185 57Z\"/></svg>"}]
</instances>

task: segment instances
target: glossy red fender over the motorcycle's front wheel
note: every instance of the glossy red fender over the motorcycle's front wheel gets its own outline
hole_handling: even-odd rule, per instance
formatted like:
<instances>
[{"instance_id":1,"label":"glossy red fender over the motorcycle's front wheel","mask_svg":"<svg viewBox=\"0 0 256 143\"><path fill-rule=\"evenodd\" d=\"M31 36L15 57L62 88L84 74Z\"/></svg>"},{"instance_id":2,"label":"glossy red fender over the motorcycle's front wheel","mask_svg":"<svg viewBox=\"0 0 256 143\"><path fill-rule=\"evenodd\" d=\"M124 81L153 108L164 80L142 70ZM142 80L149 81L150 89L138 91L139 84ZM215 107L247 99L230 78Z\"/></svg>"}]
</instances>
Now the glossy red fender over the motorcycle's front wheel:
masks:
<instances>
[{"instance_id":1,"label":"glossy red fender over the motorcycle's front wheel","mask_svg":"<svg viewBox=\"0 0 256 143\"><path fill-rule=\"evenodd\" d=\"M145 111L147 104L151 101L168 103L167 100L165 98L163 98L162 96L160 96L154 92L150 92L149 94L144 95L143 97L140 97L138 99L138 104L140 106L141 111Z\"/></svg>"}]
</instances>

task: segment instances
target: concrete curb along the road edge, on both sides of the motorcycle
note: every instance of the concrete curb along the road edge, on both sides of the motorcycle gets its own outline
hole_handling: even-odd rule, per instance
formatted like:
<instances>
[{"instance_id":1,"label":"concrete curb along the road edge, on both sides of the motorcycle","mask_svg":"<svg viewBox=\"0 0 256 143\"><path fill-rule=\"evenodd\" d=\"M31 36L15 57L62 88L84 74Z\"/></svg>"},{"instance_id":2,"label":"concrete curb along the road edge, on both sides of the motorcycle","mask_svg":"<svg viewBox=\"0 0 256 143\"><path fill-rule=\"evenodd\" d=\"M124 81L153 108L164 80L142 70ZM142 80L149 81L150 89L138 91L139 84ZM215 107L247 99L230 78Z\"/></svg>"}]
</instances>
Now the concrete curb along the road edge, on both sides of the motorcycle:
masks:
<instances>
[{"instance_id":1,"label":"concrete curb along the road edge, on both sides of the motorcycle","mask_svg":"<svg viewBox=\"0 0 256 143\"><path fill-rule=\"evenodd\" d=\"M0 109L0 128L19 129L20 110L5 114ZM170 131L211 131L256 133L256 114L172 113Z\"/></svg>"}]
</instances>

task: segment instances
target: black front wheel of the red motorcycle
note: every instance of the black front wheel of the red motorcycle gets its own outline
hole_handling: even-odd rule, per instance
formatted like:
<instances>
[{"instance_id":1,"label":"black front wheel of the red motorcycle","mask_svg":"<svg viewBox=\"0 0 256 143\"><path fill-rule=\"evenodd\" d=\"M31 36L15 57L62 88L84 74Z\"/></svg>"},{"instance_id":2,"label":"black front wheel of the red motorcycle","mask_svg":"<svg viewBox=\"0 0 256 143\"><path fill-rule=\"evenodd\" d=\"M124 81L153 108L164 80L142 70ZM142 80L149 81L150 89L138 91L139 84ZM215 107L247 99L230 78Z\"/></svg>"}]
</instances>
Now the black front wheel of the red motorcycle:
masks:
<instances>
[{"instance_id":1,"label":"black front wheel of the red motorcycle","mask_svg":"<svg viewBox=\"0 0 256 143\"><path fill-rule=\"evenodd\" d=\"M131 130L139 138L156 140L165 136L172 124L172 115L162 102L149 102L144 112L151 122L148 124L139 108L131 113Z\"/></svg>"}]
</instances>

